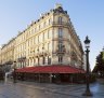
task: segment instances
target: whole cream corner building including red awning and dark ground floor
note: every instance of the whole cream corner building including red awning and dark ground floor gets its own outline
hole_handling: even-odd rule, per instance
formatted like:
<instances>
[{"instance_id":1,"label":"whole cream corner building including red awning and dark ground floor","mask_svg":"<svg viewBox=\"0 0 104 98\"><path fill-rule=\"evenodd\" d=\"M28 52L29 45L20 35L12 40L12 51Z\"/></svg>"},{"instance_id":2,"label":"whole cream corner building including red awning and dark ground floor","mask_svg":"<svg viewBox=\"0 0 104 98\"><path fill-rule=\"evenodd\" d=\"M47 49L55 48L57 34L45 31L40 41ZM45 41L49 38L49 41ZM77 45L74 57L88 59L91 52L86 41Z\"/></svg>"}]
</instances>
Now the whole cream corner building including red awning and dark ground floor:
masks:
<instances>
[{"instance_id":1,"label":"whole cream corner building including red awning and dark ground floor","mask_svg":"<svg viewBox=\"0 0 104 98\"><path fill-rule=\"evenodd\" d=\"M61 4L41 14L0 48L0 65L11 70L14 61L18 80L84 81L84 74L80 75L84 73L81 42Z\"/></svg>"}]
</instances>

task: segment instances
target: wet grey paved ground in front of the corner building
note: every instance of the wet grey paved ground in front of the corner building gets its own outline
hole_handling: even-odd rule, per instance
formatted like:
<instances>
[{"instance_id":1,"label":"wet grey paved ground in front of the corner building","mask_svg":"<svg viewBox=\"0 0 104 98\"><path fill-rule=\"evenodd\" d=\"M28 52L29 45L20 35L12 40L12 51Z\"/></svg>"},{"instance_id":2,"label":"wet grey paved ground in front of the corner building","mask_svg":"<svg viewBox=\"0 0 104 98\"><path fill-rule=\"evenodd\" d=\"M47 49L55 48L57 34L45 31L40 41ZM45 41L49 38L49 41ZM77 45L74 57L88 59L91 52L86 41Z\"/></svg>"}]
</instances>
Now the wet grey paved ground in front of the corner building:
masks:
<instances>
[{"instance_id":1,"label":"wet grey paved ground in front of the corner building","mask_svg":"<svg viewBox=\"0 0 104 98\"><path fill-rule=\"evenodd\" d=\"M91 84L90 89L93 96L83 97L81 96L86 90L83 84L57 85L18 81L15 84L0 83L0 98L104 98L104 85Z\"/></svg>"}]
</instances>

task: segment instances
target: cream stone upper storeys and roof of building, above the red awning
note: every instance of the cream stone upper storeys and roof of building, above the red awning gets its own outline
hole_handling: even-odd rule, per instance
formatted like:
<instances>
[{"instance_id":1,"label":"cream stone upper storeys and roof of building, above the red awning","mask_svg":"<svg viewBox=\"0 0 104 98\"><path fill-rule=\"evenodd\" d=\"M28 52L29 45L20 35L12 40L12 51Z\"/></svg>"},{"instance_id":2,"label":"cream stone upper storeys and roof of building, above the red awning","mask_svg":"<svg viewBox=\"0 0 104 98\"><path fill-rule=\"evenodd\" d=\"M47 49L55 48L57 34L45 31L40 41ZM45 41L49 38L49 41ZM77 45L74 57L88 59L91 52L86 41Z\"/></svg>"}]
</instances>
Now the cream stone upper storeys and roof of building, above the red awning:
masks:
<instances>
[{"instance_id":1,"label":"cream stone upper storeys and roof of building, above the red awning","mask_svg":"<svg viewBox=\"0 0 104 98\"><path fill-rule=\"evenodd\" d=\"M83 68L83 50L67 11L61 5L41 14L24 31L3 45L0 62L17 62L17 68L68 65Z\"/></svg>"}]
</instances>

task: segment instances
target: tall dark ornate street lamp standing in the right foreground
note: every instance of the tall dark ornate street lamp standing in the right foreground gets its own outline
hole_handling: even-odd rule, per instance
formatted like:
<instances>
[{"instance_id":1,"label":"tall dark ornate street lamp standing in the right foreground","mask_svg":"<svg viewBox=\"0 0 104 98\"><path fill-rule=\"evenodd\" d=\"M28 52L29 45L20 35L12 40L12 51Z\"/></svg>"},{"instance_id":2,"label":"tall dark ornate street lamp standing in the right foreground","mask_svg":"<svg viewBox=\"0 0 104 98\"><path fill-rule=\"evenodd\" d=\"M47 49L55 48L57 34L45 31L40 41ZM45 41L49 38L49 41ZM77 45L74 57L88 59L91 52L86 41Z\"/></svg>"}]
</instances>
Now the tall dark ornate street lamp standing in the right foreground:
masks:
<instances>
[{"instance_id":1,"label":"tall dark ornate street lamp standing in the right foreground","mask_svg":"<svg viewBox=\"0 0 104 98\"><path fill-rule=\"evenodd\" d=\"M89 78L90 78L90 73L89 73L89 47L90 47L90 40L88 38L88 36L86 37L84 40L84 46L86 46L86 65L87 65L87 71L86 71L86 80L87 80L87 89L86 92L82 94L82 96L92 96L91 92L90 92L90 87L89 87Z\"/></svg>"}]
</instances>

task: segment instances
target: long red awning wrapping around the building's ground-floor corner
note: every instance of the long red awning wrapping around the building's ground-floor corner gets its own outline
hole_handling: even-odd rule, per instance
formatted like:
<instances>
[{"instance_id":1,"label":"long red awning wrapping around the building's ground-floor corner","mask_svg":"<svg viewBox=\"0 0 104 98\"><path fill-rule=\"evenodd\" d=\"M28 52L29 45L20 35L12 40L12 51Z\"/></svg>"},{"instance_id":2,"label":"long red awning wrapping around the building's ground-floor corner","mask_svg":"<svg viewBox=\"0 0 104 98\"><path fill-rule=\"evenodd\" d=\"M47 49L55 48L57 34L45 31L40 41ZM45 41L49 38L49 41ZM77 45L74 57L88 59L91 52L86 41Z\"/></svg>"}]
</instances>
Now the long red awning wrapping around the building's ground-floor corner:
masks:
<instances>
[{"instance_id":1,"label":"long red awning wrapping around the building's ground-floor corner","mask_svg":"<svg viewBox=\"0 0 104 98\"><path fill-rule=\"evenodd\" d=\"M38 66L17 69L16 72L28 73L84 73L82 69L70 66Z\"/></svg>"}]
</instances>

